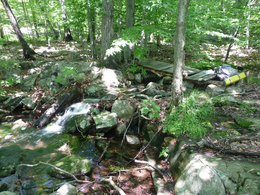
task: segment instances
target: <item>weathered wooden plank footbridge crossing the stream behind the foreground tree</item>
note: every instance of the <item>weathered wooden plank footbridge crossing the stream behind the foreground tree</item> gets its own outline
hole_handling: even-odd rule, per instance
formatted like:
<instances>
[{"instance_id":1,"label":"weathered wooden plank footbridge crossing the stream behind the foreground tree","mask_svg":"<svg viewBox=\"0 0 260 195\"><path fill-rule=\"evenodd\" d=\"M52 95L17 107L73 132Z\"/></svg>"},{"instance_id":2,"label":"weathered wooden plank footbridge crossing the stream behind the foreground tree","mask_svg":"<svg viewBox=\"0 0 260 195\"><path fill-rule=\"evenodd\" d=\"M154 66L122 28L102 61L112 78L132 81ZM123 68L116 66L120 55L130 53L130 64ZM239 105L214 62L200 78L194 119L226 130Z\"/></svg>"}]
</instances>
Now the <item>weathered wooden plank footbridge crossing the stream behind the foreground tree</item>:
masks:
<instances>
[{"instance_id":1,"label":"weathered wooden plank footbridge crossing the stream behind the foreground tree","mask_svg":"<svg viewBox=\"0 0 260 195\"><path fill-rule=\"evenodd\" d=\"M159 77L171 76L173 74L173 64L159 61L142 61L139 62L139 66L144 69L153 72ZM191 68L188 66L184 67L183 76L186 80L193 83L209 83L209 84L222 84L220 81L214 81L215 74L206 74L202 70Z\"/></svg>"}]
</instances>

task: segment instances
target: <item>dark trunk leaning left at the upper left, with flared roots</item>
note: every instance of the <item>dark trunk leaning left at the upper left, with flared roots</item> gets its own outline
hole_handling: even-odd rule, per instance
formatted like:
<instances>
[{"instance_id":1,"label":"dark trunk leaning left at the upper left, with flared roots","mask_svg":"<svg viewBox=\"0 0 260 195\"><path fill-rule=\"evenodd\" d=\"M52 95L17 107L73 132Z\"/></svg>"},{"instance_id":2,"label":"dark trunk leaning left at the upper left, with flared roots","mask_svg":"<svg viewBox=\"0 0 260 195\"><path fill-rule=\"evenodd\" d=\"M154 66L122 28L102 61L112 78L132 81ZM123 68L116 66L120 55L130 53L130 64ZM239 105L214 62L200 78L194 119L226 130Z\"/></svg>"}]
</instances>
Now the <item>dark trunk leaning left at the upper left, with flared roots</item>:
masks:
<instances>
[{"instance_id":1,"label":"dark trunk leaning left at the upper left, with flared roots","mask_svg":"<svg viewBox=\"0 0 260 195\"><path fill-rule=\"evenodd\" d=\"M15 16L7 2L7 0L1 0L4 6L4 9L6 11L6 14L9 17L9 20L11 22L11 25L15 31L16 36L18 37L18 40L23 48L23 60L30 59L30 60L36 60L33 54L37 54L34 50L32 50L27 42L25 41L25 38L20 30L20 27L15 19Z\"/></svg>"}]
</instances>

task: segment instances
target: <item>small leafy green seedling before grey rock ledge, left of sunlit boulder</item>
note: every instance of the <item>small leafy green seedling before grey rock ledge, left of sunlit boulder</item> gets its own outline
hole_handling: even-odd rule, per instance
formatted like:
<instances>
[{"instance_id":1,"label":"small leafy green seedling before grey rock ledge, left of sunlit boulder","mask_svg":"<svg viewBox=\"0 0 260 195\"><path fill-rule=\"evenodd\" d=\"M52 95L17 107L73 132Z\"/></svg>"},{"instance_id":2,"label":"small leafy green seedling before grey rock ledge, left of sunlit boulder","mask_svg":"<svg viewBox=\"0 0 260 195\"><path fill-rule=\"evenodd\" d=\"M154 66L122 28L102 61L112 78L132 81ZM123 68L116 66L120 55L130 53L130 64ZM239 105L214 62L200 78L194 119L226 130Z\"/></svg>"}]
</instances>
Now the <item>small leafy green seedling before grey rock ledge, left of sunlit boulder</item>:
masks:
<instances>
[{"instance_id":1,"label":"small leafy green seedling before grey rock ledge, left of sunlit boulder","mask_svg":"<svg viewBox=\"0 0 260 195\"><path fill-rule=\"evenodd\" d=\"M81 74L77 74L75 72L77 68L75 67L64 67L61 70L61 74L62 76L57 76L56 77L56 82L60 83L60 84L66 84L68 83L70 80L78 80L82 77Z\"/></svg>"}]
</instances>

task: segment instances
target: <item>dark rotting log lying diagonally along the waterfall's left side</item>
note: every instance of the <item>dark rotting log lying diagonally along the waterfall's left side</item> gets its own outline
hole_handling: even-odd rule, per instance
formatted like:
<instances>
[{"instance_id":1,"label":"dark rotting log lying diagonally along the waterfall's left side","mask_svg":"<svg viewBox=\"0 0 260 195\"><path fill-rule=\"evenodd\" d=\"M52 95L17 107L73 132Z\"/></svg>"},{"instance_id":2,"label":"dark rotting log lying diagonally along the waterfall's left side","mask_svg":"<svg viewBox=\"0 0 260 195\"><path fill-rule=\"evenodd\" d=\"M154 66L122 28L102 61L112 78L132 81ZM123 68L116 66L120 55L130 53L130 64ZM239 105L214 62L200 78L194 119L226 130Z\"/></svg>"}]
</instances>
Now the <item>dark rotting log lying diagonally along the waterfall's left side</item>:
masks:
<instances>
[{"instance_id":1,"label":"dark rotting log lying diagonally along the waterfall's left side","mask_svg":"<svg viewBox=\"0 0 260 195\"><path fill-rule=\"evenodd\" d=\"M35 127L42 127L48 122L57 112L59 112L67 103L74 100L79 95L79 89L75 87L73 90L63 94L53 105L50 106L34 124Z\"/></svg>"}]
</instances>

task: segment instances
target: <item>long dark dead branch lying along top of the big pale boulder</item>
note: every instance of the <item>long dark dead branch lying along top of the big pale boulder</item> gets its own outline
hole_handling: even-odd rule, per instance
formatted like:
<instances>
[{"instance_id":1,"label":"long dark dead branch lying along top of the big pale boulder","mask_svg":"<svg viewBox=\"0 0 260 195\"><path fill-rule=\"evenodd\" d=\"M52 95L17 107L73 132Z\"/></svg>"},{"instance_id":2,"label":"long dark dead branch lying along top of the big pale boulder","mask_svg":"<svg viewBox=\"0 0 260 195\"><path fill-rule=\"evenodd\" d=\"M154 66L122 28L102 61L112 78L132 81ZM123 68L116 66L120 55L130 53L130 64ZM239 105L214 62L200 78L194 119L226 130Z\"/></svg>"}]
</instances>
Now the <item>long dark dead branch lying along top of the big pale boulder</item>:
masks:
<instances>
[{"instance_id":1,"label":"long dark dead branch lying along top of the big pale boulder","mask_svg":"<svg viewBox=\"0 0 260 195\"><path fill-rule=\"evenodd\" d=\"M197 145L200 148L208 147L208 148L215 149L217 151L221 151L225 154L235 154L235 155L244 155L244 156L251 156L251 157L254 157L254 156L260 157L259 152L246 152L246 151L239 152L239 151L236 151L236 150L223 149L221 147L217 147L215 144L212 144L212 143L210 143L206 140L202 140L202 141L198 142Z\"/></svg>"}]
</instances>

